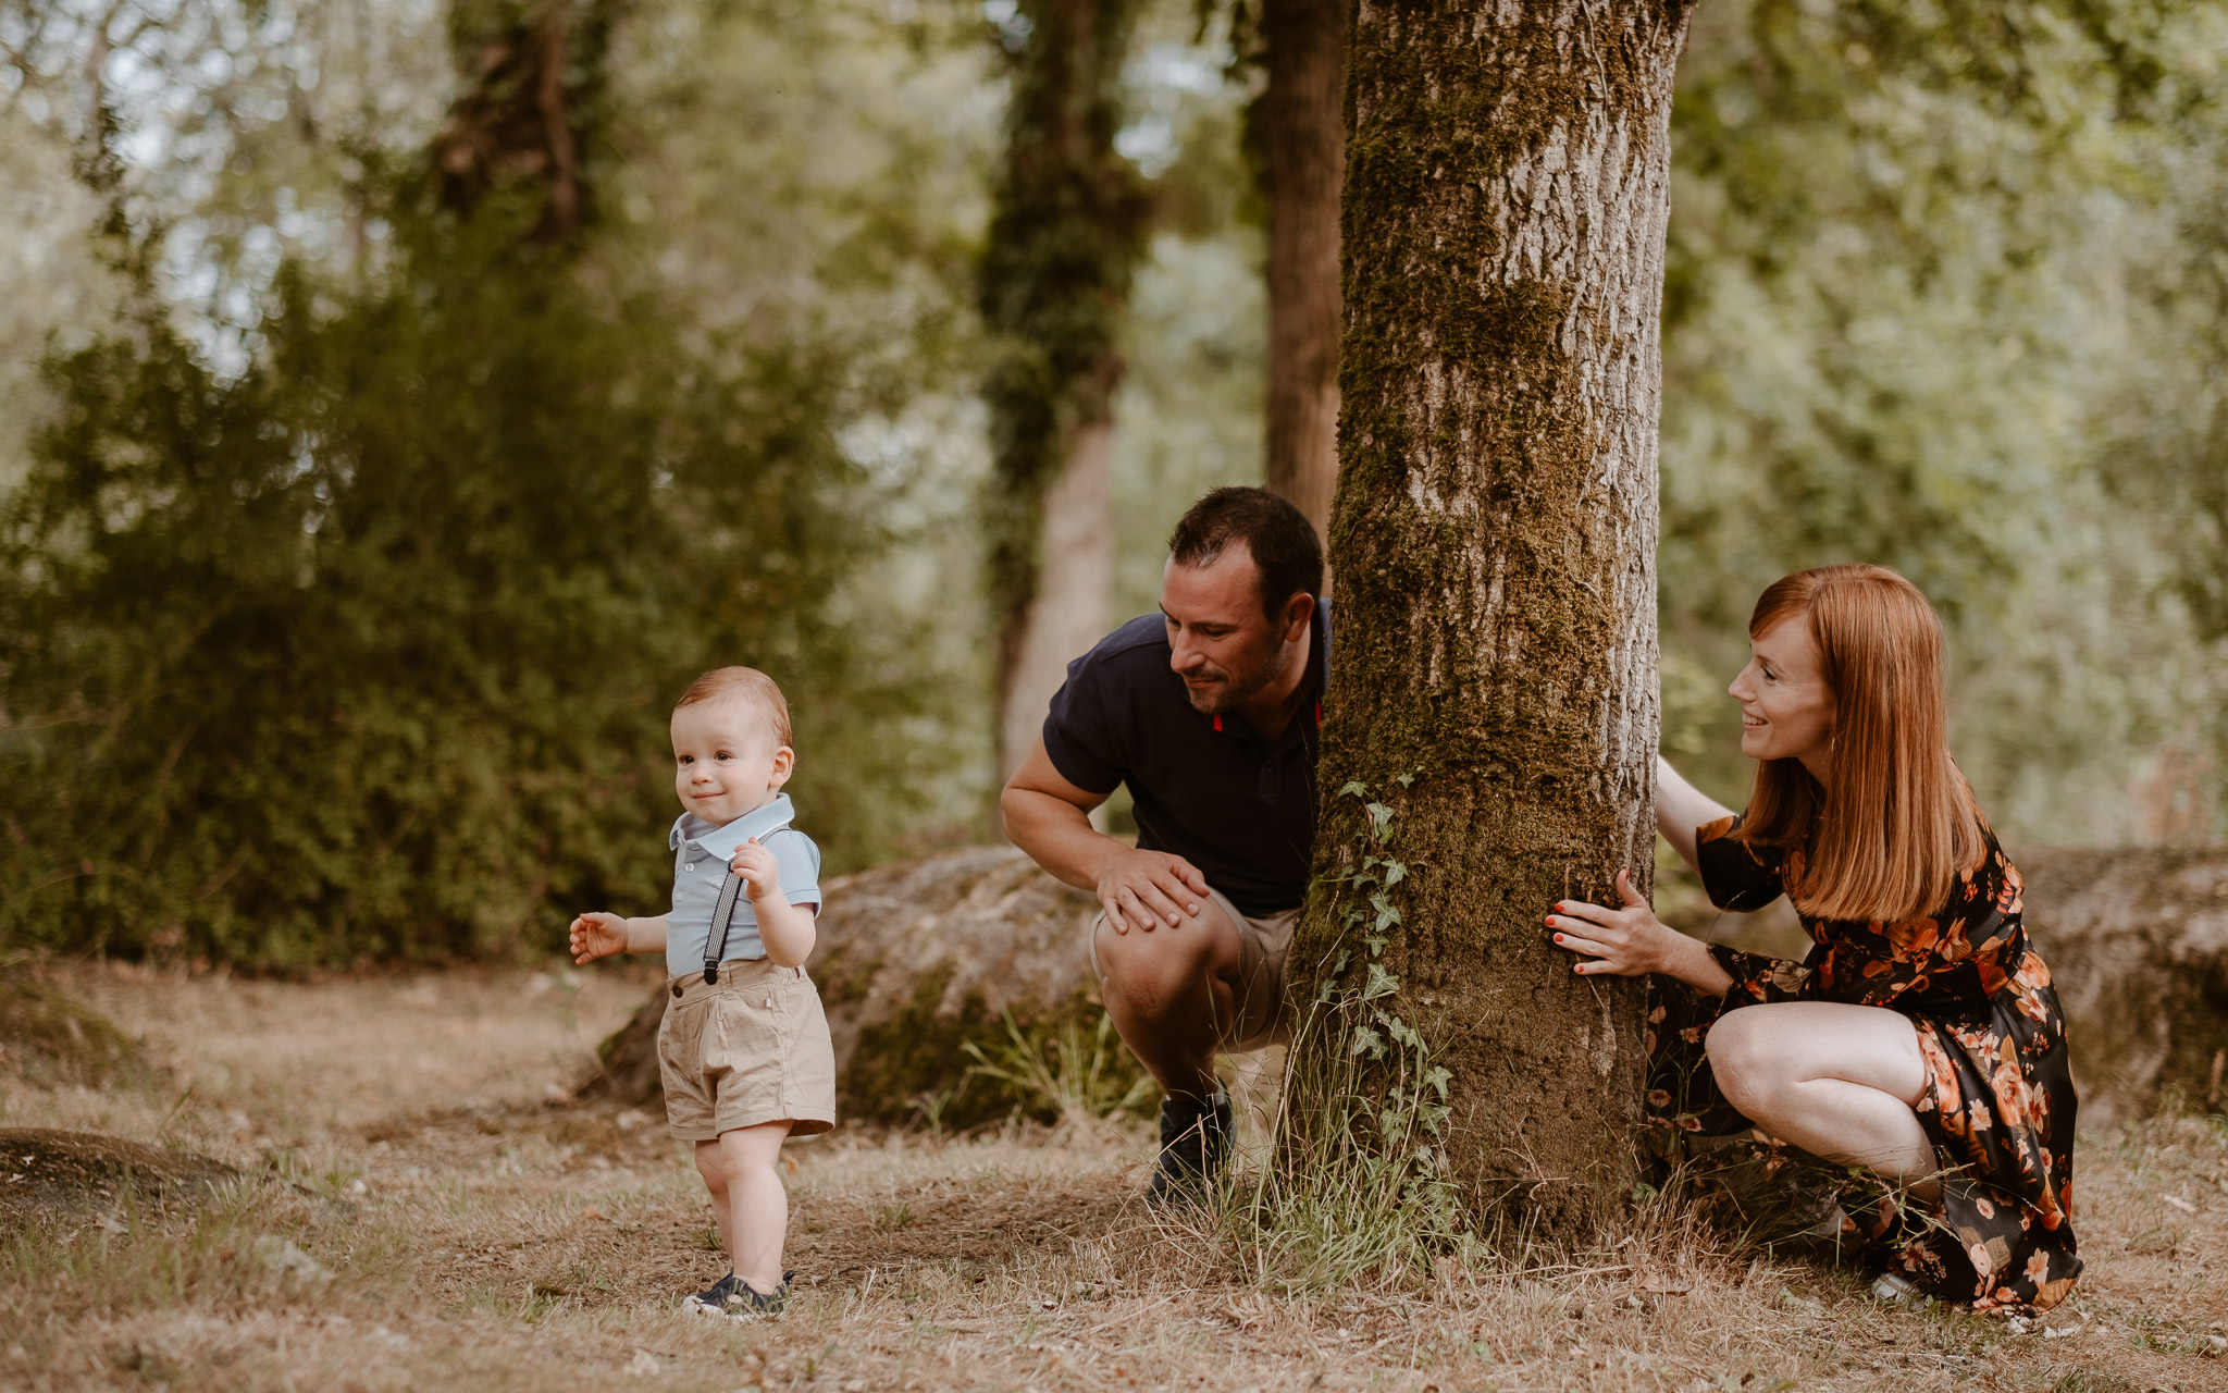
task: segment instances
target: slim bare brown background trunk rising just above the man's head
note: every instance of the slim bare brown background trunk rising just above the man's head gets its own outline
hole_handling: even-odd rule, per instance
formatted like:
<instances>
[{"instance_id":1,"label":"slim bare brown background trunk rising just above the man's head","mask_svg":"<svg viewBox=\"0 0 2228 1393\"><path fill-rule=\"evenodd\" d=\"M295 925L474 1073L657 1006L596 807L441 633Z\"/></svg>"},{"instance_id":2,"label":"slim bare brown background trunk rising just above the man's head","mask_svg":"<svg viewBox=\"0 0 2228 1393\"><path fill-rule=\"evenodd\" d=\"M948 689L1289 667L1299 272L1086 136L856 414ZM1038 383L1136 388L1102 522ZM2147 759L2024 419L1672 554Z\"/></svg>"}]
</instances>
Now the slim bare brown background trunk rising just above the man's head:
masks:
<instances>
[{"instance_id":1,"label":"slim bare brown background trunk rising just above the man's head","mask_svg":"<svg viewBox=\"0 0 2228 1393\"><path fill-rule=\"evenodd\" d=\"M1339 181L1346 4L1263 0L1268 486L1330 528L1339 477Z\"/></svg>"}]
</instances>

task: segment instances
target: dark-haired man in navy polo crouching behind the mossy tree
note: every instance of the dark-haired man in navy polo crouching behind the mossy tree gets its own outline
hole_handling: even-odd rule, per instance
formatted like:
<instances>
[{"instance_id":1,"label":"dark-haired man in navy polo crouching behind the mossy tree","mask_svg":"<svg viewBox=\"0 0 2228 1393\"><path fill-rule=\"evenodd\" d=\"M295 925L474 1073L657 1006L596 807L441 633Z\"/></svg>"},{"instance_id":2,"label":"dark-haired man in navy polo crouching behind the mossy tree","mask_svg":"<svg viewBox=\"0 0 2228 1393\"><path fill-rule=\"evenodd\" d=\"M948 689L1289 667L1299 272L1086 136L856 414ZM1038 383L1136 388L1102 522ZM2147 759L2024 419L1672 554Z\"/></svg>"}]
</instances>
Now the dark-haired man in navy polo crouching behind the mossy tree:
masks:
<instances>
[{"instance_id":1,"label":"dark-haired man in navy polo crouching behind the mossy tree","mask_svg":"<svg viewBox=\"0 0 2228 1393\"><path fill-rule=\"evenodd\" d=\"M1201 1199L1230 1157L1216 1052L1286 1039L1330 651L1323 548L1292 504L1216 488L1167 551L1161 613L1067 664L1000 796L1014 845L1098 896L1107 1014L1167 1094L1154 1204ZM1089 825L1121 785L1136 847Z\"/></svg>"}]
</instances>

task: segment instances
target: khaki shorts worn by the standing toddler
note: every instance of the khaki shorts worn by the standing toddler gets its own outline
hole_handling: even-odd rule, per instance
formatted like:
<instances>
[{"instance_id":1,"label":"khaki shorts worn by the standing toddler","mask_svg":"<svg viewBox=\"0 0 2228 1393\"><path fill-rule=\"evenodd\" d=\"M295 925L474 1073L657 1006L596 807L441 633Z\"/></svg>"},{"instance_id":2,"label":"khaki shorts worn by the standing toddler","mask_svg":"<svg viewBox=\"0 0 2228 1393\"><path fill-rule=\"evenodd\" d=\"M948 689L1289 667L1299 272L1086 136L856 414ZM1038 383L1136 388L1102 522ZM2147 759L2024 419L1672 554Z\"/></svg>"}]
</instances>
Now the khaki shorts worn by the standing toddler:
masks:
<instances>
[{"instance_id":1,"label":"khaki shorts worn by the standing toddler","mask_svg":"<svg viewBox=\"0 0 2228 1393\"><path fill-rule=\"evenodd\" d=\"M836 1045L802 967L729 963L717 983L691 972L666 992L657 1074L675 1137L711 1141L769 1121L811 1137L836 1126Z\"/></svg>"}]
</instances>

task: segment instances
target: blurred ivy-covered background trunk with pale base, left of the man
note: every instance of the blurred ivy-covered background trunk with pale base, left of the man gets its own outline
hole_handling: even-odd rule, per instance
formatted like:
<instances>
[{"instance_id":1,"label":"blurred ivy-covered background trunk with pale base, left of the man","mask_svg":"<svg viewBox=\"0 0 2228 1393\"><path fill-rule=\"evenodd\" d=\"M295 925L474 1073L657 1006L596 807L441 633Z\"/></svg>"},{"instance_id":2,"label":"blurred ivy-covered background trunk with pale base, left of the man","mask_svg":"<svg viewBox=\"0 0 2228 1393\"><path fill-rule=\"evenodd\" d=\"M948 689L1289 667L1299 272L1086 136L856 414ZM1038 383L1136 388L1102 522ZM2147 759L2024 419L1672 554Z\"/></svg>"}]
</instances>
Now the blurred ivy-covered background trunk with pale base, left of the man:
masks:
<instances>
[{"instance_id":1,"label":"blurred ivy-covered background trunk with pale base, left of the man","mask_svg":"<svg viewBox=\"0 0 2228 1393\"><path fill-rule=\"evenodd\" d=\"M1134 16L1136 0L1029 0L1003 31L1014 87L983 254L1000 778L1103 633L1114 582L1105 470L1147 207L1114 152Z\"/></svg>"}]
</instances>

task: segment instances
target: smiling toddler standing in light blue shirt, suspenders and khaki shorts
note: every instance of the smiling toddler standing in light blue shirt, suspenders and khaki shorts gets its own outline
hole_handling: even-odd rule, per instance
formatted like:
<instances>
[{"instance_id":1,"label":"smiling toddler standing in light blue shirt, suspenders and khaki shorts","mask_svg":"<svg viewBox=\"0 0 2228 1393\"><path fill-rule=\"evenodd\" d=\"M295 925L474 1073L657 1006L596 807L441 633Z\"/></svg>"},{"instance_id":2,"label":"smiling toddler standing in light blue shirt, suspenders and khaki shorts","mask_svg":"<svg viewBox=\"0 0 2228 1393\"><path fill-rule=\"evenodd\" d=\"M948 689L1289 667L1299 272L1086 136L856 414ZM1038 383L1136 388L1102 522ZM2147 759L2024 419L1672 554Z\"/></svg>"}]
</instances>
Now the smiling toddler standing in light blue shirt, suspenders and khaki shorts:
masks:
<instances>
[{"instance_id":1,"label":"smiling toddler standing in light blue shirt, suspenders and khaki shorts","mask_svg":"<svg viewBox=\"0 0 2228 1393\"><path fill-rule=\"evenodd\" d=\"M773 678L724 666L673 707L673 912L582 914L573 961L666 954L657 1070L666 1123L695 1143L733 1270L682 1304L773 1315L789 1302L782 1141L836 1126L836 1048L804 976L820 912L820 847L789 825L789 702Z\"/></svg>"}]
</instances>

